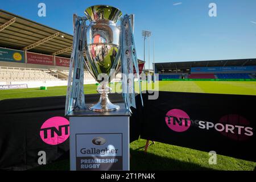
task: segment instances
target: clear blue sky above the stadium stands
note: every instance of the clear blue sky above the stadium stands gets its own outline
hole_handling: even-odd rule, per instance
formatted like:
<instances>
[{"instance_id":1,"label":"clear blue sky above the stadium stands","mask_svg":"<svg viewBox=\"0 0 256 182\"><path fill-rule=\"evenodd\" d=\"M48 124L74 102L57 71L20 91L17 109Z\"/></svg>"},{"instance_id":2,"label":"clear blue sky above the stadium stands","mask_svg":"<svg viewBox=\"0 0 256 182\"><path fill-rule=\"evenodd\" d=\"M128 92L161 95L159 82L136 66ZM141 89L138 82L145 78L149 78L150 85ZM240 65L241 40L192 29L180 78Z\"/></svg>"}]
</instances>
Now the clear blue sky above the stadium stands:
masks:
<instances>
[{"instance_id":1,"label":"clear blue sky above the stadium stands","mask_svg":"<svg viewBox=\"0 0 256 182\"><path fill-rule=\"evenodd\" d=\"M46 4L46 17L38 16L40 2ZM211 2L217 5L217 17L208 15ZM135 14L134 38L139 59L143 59L142 30L152 31L151 61L155 41L155 62L256 57L255 0L0 0L3 10L69 34L73 34L72 14L83 15L86 7L97 4Z\"/></svg>"}]
</instances>

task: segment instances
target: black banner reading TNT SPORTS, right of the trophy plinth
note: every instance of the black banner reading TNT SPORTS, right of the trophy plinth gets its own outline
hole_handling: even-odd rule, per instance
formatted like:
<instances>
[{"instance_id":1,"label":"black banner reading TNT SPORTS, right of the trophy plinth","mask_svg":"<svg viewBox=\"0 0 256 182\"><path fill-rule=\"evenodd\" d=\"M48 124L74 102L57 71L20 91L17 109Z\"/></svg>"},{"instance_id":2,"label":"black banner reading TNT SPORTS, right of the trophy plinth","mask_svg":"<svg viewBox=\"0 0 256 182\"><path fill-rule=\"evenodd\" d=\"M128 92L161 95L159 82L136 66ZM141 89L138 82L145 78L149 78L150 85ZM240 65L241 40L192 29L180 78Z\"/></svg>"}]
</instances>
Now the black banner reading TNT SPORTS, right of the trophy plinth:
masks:
<instances>
[{"instance_id":1,"label":"black banner reading TNT SPORTS, right of the trophy plinth","mask_svg":"<svg viewBox=\"0 0 256 182\"><path fill-rule=\"evenodd\" d=\"M141 138L256 161L256 96L159 92L143 100Z\"/></svg>"}]
</instances>

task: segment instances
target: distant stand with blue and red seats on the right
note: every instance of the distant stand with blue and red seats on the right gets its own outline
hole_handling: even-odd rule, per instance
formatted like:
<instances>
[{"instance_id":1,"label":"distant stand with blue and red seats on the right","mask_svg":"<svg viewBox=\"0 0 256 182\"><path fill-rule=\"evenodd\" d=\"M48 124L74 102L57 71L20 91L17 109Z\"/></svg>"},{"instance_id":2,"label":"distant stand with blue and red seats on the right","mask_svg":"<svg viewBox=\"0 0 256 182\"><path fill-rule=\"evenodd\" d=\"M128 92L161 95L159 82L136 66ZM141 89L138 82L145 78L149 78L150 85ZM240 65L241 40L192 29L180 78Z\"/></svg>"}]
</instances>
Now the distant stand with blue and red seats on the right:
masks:
<instances>
[{"instance_id":1,"label":"distant stand with blue and red seats on the right","mask_svg":"<svg viewBox=\"0 0 256 182\"><path fill-rule=\"evenodd\" d=\"M255 80L256 59L155 63L159 80Z\"/></svg>"}]
</instances>

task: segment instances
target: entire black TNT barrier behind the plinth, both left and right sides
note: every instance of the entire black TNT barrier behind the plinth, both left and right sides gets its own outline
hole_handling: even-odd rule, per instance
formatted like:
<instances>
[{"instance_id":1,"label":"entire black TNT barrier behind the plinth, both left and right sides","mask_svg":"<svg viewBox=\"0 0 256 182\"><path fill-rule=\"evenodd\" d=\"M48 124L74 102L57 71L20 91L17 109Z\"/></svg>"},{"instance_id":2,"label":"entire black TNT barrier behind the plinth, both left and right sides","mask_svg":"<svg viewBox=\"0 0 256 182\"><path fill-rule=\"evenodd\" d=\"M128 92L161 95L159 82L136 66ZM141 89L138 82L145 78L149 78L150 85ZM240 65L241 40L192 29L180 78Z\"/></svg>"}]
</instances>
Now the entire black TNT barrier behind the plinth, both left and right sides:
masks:
<instances>
[{"instance_id":1,"label":"entire black TNT barrier behind the plinth, both left and right sides","mask_svg":"<svg viewBox=\"0 0 256 182\"><path fill-rule=\"evenodd\" d=\"M85 96L95 103L99 94ZM121 94L109 94L113 103ZM157 100L136 97L130 117L130 142L141 138L201 151L255 160L256 96L159 92ZM69 158L65 96L0 101L0 169L24 170ZM53 123L55 123L53 125ZM41 152L40 152L41 151Z\"/></svg>"}]
</instances>

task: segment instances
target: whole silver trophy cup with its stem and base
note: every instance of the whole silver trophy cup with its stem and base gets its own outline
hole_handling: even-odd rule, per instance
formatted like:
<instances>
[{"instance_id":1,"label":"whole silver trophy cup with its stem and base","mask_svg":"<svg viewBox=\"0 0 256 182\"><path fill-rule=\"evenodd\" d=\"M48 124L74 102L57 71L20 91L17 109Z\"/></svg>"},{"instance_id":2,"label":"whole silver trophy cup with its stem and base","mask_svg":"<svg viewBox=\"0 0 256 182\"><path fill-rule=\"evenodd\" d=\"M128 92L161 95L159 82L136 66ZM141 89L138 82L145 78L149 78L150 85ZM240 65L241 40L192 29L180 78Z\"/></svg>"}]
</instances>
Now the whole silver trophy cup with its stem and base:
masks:
<instances>
[{"instance_id":1,"label":"whole silver trophy cup with its stem and base","mask_svg":"<svg viewBox=\"0 0 256 182\"><path fill-rule=\"evenodd\" d=\"M89 73L100 83L97 92L101 94L97 104L89 106L94 111L119 109L109 101L109 82L119 71L120 29L117 22L122 12L112 6L96 5L84 11L90 21L86 29L85 65ZM102 78L104 77L104 78Z\"/></svg>"}]
</instances>

